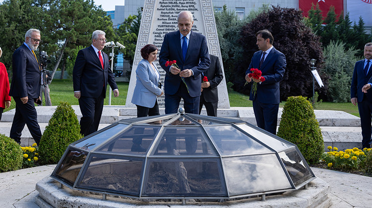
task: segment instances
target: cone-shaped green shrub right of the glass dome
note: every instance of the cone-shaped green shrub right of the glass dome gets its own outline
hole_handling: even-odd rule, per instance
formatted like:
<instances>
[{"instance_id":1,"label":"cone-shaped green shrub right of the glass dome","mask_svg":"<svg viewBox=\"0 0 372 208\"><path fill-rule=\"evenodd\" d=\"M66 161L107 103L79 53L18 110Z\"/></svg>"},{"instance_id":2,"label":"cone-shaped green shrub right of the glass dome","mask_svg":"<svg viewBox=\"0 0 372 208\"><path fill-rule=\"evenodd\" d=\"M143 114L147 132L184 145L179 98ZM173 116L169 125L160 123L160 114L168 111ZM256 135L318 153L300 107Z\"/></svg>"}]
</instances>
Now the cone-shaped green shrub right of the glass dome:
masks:
<instances>
[{"instance_id":1,"label":"cone-shaped green shrub right of the glass dome","mask_svg":"<svg viewBox=\"0 0 372 208\"><path fill-rule=\"evenodd\" d=\"M297 145L310 164L319 162L324 152L323 136L314 110L302 96L289 97L284 104L277 135Z\"/></svg>"}]
</instances>

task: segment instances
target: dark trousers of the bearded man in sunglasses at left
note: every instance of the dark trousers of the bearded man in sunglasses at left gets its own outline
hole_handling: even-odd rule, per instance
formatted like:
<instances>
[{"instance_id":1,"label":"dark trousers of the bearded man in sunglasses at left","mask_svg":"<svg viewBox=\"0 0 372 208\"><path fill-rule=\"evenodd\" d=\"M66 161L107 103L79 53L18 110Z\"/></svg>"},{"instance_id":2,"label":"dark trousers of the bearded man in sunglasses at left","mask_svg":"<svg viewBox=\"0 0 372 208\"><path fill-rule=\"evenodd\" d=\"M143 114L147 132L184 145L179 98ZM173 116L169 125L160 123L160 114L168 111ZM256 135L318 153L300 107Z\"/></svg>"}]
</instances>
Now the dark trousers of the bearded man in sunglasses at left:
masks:
<instances>
[{"instance_id":1,"label":"dark trousers of the bearded man in sunglasses at left","mask_svg":"<svg viewBox=\"0 0 372 208\"><path fill-rule=\"evenodd\" d=\"M23 104L19 97L13 97L13 99L15 101L15 114L13 123L11 124L9 137L15 140L18 144L21 144L22 130L26 124L32 138L35 140L36 144L39 145L41 131L37 120L38 115L34 100L29 98L28 102Z\"/></svg>"}]
</instances>

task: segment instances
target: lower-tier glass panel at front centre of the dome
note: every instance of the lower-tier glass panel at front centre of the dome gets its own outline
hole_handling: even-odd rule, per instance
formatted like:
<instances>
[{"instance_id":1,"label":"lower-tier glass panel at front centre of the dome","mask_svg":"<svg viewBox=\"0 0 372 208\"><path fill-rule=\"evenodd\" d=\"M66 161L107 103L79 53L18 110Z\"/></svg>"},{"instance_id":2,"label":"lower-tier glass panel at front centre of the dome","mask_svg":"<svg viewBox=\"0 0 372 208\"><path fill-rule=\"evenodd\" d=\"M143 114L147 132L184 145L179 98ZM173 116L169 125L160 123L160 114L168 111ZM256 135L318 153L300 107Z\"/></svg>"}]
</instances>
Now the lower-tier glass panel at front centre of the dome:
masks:
<instances>
[{"instance_id":1,"label":"lower-tier glass panel at front centre of the dome","mask_svg":"<svg viewBox=\"0 0 372 208\"><path fill-rule=\"evenodd\" d=\"M156 160L156 161L155 161ZM219 159L149 158L142 196L227 197Z\"/></svg>"}]
</instances>

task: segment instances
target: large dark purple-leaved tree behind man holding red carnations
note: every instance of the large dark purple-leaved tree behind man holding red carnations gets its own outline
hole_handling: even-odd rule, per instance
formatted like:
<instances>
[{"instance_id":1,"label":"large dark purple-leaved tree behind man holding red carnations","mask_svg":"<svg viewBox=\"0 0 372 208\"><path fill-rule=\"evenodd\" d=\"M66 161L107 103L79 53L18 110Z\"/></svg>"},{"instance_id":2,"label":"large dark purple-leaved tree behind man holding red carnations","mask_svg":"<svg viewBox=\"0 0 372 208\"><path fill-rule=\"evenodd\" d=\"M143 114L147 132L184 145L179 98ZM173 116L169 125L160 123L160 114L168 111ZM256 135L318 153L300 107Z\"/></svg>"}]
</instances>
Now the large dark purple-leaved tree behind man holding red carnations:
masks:
<instances>
[{"instance_id":1,"label":"large dark purple-leaved tree behind man holding red carnations","mask_svg":"<svg viewBox=\"0 0 372 208\"><path fill-rule=\"evenodd\" d=\"M281 99L287 100L287 97L298 95L311 97L310 59L317 59L316 66L323 61L319 38L305 25L301 11L279 6L273 6L269 11L258 14L243 27L240 43L244 48L245 58L236 69L239 79L234 80L235 90L246 93L245 72L253 53L258 51L255 33L263 29L268 29L273 34L273 46L283 52L287 59L286 72L280 83ZM326 84L326 77L321 77ZM325 93L324 89L319 91Z\"/></svg>"}]
</instances>

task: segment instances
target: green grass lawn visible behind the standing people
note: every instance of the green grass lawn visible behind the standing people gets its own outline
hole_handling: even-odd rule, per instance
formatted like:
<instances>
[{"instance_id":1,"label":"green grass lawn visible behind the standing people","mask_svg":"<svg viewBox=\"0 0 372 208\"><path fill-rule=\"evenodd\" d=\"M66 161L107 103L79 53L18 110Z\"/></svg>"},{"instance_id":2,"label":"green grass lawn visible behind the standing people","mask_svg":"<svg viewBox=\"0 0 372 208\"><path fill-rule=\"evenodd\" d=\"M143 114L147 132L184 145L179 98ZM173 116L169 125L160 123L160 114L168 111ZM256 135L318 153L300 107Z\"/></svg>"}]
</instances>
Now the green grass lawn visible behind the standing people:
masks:
<instances>
[{"instance_id":1,"label":"green grass lawn visible behind the standing people","mask_svg":"<svg viewBox=\"0 0 372 208\"><path fill-rule=\"evenodd\" d=\"M112 105L125 105L126 94L128 92L128 82L118 82L118 88L120 95L115 98L112 95L111 104ZM58 105L61 101L68 102L71 105L78 105L78 100L73 96L72 80L61 80L53 79L52 84L49 85L50 95L52 100L52 105ZM249 101L249 97L241 93L234 92L232 90L228 91L230 106L232 107L251 107L252 102ZM109 90L106 93L105 105L109 104ZM285 102L280 103L280 107L283 107ZM4 109L4 112L15 108L15 102L12 99L9 108ZM318 104L315 109L319 110L342 110L359 117L358 107L350 103L321 103Z\"/></svg>"}]
</instances>

